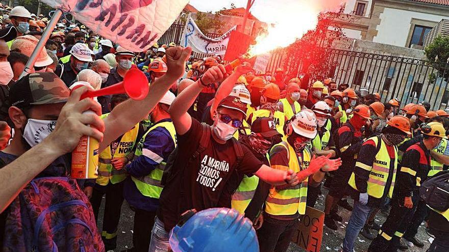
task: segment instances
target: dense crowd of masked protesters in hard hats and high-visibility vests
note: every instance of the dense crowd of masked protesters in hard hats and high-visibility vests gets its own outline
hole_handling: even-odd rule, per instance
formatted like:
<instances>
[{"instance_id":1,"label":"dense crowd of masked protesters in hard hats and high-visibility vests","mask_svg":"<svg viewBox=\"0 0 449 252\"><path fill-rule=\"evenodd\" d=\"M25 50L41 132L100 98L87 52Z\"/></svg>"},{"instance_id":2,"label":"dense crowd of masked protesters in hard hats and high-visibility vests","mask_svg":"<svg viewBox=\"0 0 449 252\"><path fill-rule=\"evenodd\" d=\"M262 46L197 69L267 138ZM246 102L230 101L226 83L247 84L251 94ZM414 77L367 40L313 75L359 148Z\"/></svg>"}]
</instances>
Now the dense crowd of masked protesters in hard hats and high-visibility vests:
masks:
<instances>
[{"instance_id":1,"label":"dense crowd of masked protesters in hard hats and high-visibility vests","mask_svg":"<svg viewBox=\"0 0 449 252\"><path fill-rule=\"evenodd\" d=\"M368 251L423 247L422 221L428 251L448 251L446 111L315 80L313 66L290 79L247 62L227 71L219 55L174 43L136 53L66 19L20 77L48 19L21 6L0 13L3 251L114 251L124 200L135 212L128 251L286 251L322 188L326 227L352 212L342 251L357 250L359 233ZM150 85L143 100L80 100L130 69ZM98 177L74 180L83 135L101 141Z\"/></svg>"}]
</instances>

